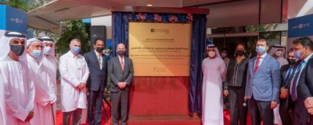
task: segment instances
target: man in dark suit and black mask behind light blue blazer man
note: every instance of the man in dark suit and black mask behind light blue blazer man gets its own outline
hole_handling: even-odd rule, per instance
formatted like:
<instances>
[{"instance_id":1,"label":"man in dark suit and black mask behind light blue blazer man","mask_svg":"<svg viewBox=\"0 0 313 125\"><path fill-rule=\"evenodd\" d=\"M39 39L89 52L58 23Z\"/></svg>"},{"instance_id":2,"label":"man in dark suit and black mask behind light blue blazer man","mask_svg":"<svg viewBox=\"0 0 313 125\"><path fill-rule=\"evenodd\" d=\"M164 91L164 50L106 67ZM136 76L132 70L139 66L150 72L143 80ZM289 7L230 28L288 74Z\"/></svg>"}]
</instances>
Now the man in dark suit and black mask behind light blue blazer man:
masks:
<instances>
[{"instance_id":1,"label":"man in dark suit and black mask behind light blue blazer man","mask_svg":"<svg viewBox=\"0 0 313 125\"><path fill-rule=\"evenodd\" d=\"M280 68L281 71L281 88L280 88L280 107L279 114L283 125L293 125L294 123L294 102L291 100L289 94L290 82L295 68L301 62L297 62L298 59L294 56L294 49L291 48L287 52L287 61L289 64L283 65Z\"/></svg>"}]
</instances>

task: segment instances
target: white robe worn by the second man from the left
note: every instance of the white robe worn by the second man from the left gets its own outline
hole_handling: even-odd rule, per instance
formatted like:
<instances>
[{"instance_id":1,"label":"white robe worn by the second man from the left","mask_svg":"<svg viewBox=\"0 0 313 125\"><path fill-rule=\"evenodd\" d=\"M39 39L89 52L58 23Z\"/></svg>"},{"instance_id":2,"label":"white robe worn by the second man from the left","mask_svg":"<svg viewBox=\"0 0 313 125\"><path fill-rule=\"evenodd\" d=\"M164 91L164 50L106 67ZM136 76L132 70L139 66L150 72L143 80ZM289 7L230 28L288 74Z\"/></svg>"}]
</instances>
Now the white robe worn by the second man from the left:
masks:
<instances>
[{"instance_id":1,"label":"white robe worn by the second man from the left","mask_svg":"<svg viewBox=\"0 0 313 125\"><path fill-rule=\"evenodd\" d=\"M34 117L31 120L31 125L53 125L50 98L54 93L50 89L49 82L45 81L45 77L47 76L44 72L45 69L43 66L40 67L41 62L39 59L35 59L29 55L26 58L29 74L32 74L31 80L36 89Z\"/></svg>"}]
</instances>

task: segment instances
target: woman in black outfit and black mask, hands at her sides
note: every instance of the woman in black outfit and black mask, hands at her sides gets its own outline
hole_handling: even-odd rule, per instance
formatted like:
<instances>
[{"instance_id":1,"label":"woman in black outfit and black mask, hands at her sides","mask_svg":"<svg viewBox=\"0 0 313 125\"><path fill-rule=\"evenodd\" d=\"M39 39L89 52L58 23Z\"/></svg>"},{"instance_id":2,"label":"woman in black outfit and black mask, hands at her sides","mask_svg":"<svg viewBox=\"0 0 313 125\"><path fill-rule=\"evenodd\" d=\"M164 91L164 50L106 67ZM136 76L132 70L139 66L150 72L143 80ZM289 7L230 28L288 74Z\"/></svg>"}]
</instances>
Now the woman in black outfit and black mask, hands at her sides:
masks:
<instances>
[{"instance_id":1,"label":"woman in black outfit and black mask, hands at her sides","mask_svg":"<svg viewBox=\"0 0 313 125\"><path fill-rule=\"evenodd\" d=\"M229 96L230 125L246 125L247 106L244 102L247 69L249 58L246 57L244 44L236 46L235 58L229 62L225 83L224 95Z\"/></svg>"}]
</instances>

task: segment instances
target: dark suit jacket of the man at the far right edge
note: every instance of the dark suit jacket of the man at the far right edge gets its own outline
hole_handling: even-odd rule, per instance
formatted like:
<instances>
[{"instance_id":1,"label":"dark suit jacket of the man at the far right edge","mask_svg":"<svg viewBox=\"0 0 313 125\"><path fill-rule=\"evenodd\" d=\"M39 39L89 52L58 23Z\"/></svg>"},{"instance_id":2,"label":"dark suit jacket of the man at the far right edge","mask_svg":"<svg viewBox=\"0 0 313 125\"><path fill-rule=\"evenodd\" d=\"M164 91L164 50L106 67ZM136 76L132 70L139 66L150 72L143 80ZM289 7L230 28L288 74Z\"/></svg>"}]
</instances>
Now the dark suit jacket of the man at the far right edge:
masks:
<instances>
[{"instance_id":1,"label":"dark suit jacket of the man at the far right edge","mask_svg":"<svg viewBox=\"0 0 313 125\"><path fill-rule=\"evenodd\" d=\"M303 68L303 71L301 72L299 83L297 86L297 94L299 98L298 100L301 101L300 103L303 103L303 101L307 97L313 96L313 56L308 60L306 66ZM306 108L303 106L302 114L301 114L301 122L305 123L308 117L309 117L309 114ZM312 115L310 115L310 117L313 118ZM313 123L310 123L310 124L313 124Z\"/></svg>"}]
</instances>

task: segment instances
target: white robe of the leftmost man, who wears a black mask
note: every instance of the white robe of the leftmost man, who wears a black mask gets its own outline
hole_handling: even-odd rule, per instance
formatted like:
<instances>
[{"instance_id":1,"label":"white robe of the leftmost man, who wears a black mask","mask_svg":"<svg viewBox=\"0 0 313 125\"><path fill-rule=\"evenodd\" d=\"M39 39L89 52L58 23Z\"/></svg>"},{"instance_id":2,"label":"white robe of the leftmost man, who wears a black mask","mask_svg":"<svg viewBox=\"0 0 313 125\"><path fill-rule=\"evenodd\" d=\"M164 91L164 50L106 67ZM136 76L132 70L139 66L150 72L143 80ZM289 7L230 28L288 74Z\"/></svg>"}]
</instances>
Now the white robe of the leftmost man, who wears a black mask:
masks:
<instances>
[{"instance_id":1,"label":"white robe of the leftmost man, who wears a black mask","mask_svg":"<svg viewBox=\"0 0 313 125\"><path fill-rule=\"evenodd\" d=\"M5 92L7 125L29 125L24 122L34 108L35 88L23 62L6 57L0 63L1 78Z\"/></svg>"}]
</instances>

